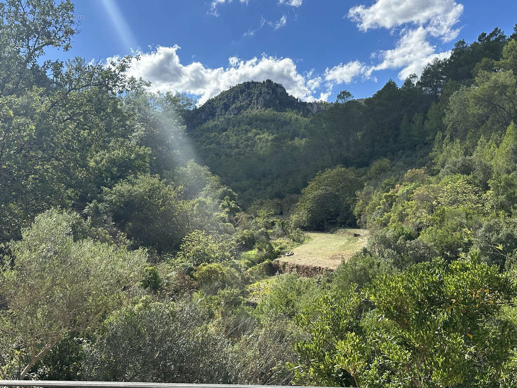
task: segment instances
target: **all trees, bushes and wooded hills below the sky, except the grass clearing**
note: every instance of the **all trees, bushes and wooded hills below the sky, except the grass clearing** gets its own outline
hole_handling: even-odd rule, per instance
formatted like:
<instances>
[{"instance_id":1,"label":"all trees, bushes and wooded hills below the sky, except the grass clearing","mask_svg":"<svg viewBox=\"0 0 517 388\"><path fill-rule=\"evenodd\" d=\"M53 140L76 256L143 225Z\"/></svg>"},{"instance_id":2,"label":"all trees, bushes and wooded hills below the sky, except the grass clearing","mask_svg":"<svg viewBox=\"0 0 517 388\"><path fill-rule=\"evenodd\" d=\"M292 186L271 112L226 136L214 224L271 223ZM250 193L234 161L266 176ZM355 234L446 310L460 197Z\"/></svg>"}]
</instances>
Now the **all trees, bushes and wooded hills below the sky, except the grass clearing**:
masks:
<instances>
[{"instance_id":1,"label":"all trees, bushes and wooded hills below the sky, except the grass clearing","mask_svg":"<svg viewBox=\"0 0 517 388\"><path fill-rule=\"evenodd\" d=\"M515 385L517 26L364 100L193 108L44 56L69 2L0 21L0 377ZM372 236L336 271L275 274L343 226Z\"/></svg>"}]
</instances>

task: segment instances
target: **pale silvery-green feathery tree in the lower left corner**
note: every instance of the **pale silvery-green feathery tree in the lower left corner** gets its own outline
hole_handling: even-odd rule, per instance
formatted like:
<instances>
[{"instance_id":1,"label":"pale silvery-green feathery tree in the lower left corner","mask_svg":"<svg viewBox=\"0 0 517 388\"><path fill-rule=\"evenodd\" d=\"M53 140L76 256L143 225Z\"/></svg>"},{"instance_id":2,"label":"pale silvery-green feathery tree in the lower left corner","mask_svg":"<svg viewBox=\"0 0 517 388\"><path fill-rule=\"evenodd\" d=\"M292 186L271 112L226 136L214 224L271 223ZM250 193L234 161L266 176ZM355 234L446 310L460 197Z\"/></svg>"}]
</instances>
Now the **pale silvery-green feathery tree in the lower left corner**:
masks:
<instances>
[{"instance_id":1,"label":"pale silvery-green feathery tree in the lower left corner","mask_svg":"<svg viewBox=\"0 0 517 388\"><path fill-rule=\"evenodd\" d=\"M23 230L23 240L7 245L0 283L4 378L25 379L59 341L95 329L138 284L145 251L78 239L82 222L78 214L49 210Z\"/></svg>"}]
</instances>

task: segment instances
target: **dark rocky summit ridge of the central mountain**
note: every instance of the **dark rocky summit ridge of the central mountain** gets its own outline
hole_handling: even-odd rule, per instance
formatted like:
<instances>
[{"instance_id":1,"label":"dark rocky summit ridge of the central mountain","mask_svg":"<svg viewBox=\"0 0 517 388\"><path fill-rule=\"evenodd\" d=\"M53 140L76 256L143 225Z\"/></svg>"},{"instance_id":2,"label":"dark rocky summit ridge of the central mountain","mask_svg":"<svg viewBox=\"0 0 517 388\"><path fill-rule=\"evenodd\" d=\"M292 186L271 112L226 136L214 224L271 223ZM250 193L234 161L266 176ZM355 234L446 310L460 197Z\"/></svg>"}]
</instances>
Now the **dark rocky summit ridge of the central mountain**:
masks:
<instances>
[{"instance_id":1,"label":"dark rocky summit ridge of the central mountain","mask_svg":"<svg viewBox=\"0 0 517 388\"><path fill-rule=\"evenodd\" d=\"M299 111L304 116L323 111L315 102L303 102L287 94L285 88L271 80L264 82L244 82L214 98L201 107L186 112L185 121L193 129L213 118L223 115L235 116L246 110L273 109L278 112Z\"/></svg>"}]
</instances>

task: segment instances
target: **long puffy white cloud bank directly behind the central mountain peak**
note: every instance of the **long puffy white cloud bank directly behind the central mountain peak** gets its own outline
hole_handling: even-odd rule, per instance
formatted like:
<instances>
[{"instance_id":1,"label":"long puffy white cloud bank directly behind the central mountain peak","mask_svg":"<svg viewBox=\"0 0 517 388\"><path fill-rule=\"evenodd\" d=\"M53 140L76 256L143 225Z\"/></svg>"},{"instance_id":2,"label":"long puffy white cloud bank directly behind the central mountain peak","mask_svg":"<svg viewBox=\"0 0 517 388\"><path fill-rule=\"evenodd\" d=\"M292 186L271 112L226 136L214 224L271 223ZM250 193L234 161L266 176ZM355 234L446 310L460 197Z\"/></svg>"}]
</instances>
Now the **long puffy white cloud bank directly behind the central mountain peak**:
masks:
<instances>
[{"instance_id":1,"label":"long puffy white cloud bank directly behind the central mountain peak","mask_svg":"<svg viewBox=\"0 0 517 388\"><path fill-rule=\"evenodd\" d=\"M305 101L313 101L320 77L312 72L301 74L291 58L267 56L247 61L232 56L227 67L209 68L200 62L183 65L178 46L158 47L155 51L140 53L140 61L133 61L129 75L151 82L153 91L172 91L200 96L199 103L245 81L271 79L282 84L287 93ZM112 59L108 58L108 62Z\"/></svg>"}]
</instances>

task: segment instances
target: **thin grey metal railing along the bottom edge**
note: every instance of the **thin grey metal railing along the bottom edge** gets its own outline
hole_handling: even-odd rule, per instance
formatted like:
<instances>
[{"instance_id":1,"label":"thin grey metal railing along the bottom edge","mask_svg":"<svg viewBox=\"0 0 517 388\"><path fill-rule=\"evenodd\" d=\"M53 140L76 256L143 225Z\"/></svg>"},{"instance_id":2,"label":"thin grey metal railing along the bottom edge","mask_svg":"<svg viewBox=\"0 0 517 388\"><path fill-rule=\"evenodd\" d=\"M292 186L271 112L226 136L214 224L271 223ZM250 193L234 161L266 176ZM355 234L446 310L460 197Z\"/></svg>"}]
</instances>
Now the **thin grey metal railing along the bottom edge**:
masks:
<instances>
[{"instance_id":1,"label":"thin grey metal railing along the bottom edge","mask_svg":"<svg viewBox=\"0 0 517 388\"><path fill-rule=\"evenodd\" d=\"M284 385L242 384L184 384L145 383L121 381L50 381L50 380L0 380L0 386L28 386L42 388L328 388Z\"/></svg>"}]
</instances>

